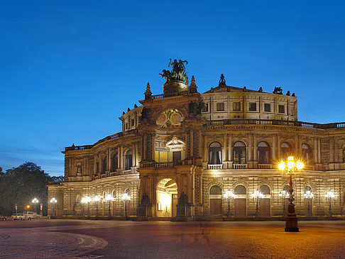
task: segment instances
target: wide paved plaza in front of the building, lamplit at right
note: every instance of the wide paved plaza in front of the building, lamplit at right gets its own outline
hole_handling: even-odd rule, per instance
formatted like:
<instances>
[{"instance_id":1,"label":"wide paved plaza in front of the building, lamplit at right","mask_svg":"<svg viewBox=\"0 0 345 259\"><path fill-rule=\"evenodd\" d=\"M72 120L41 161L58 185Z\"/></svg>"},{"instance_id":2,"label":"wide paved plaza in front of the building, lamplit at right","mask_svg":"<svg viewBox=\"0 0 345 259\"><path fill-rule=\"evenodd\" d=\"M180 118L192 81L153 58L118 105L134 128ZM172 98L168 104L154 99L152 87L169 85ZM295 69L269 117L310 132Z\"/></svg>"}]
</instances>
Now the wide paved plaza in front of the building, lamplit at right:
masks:
<instances>
[{"instance_id":1,"label":"wide paved plaza in front of the building, lamplit at right","mask_svg":"<svg viewBox=\"0 0 345 259\"><path fill-rule=\"evenodd\" d=\"M0 258L345 258L345 221L0 222Z\"/></svg>"}]
</instances>

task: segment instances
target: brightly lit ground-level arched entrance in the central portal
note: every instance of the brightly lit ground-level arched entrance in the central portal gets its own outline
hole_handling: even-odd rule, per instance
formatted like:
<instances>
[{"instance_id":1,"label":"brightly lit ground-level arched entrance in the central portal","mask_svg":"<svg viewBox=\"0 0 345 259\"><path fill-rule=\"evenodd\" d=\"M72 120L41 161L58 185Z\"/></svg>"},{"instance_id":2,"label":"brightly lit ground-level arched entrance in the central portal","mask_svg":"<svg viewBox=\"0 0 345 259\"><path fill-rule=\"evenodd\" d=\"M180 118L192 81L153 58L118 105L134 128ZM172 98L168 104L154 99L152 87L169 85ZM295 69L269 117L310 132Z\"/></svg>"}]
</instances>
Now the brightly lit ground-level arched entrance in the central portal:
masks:
<instances>
[{"instance_id":1,"label":"brightly lit ground-level arched entrance in the central portal","mask_svg":"<svg viewBox=\"0 0 345 259\"><path fill-rule=\"evenodd\" d=\"M176 216L177 184L171 178L160 180L156 189L156 215L158 217Z\"/></svg>"}]
</instances>

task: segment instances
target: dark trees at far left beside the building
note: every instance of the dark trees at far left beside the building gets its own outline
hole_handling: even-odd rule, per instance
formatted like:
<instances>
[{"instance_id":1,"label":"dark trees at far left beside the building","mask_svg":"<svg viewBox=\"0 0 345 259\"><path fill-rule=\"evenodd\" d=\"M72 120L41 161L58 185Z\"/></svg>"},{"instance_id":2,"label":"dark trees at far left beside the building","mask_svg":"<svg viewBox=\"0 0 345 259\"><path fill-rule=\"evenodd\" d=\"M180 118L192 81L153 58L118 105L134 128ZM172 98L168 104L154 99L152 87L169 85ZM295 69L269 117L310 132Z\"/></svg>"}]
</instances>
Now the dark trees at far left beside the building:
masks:
<instances>
[{"instance_id":1,"label":"dark trees at far left beside the building","mask_svg":"<svg viewBox=\"0 0 345 259\"><path fill-rule=\"evenodd\" d=\"M39 204L42 203L43 215L46 215L49 182L63 182L63 177L51 177L33 162L25 162L6 172L0 167L0 214L9 216L16 213L15 204L18 213L28 209L27 205L30 205L28 210L39 212ZM34 198L38 199L36 206L32 204Z\"/></svg>"}]
</instances>

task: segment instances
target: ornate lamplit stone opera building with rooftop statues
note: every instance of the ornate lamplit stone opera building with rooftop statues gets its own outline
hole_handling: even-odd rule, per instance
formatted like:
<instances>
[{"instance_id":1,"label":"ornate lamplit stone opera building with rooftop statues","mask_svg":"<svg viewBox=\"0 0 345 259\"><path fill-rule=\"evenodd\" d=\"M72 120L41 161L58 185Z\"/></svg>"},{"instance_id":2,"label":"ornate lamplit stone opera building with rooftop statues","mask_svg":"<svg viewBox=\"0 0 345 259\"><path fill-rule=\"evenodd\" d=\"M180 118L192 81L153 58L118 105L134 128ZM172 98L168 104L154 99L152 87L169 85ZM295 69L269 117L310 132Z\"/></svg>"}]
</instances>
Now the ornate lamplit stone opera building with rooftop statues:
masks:
<instances>
[{"instance_id":1,"label":"ornate lamplit stone opera building with rooftop statues","mask_svg":"<svg viewBox=\"0 0 345 259\"><path fill-rule=\"evenodd\" d=\"M261 217L280 217L279 194L289 182L278 161L294 155L305 163L293 177L297 216L327 216L328 191L333 215L342 216L345 123L297 121L295 94L229 87L223 76L199 94L194 77L187 85L184 62L163 70L163 94L152 95L148 84L142 105L120 117L121 133L65 148L65 182L48 186L48 200L57 199L48 214L222 218L230 204L231 216L241 218L254 216L258 203ZM252 198L256 189L261 199ZM227 190L234 199L224 197Z\"/></svg>"}]
</instances>

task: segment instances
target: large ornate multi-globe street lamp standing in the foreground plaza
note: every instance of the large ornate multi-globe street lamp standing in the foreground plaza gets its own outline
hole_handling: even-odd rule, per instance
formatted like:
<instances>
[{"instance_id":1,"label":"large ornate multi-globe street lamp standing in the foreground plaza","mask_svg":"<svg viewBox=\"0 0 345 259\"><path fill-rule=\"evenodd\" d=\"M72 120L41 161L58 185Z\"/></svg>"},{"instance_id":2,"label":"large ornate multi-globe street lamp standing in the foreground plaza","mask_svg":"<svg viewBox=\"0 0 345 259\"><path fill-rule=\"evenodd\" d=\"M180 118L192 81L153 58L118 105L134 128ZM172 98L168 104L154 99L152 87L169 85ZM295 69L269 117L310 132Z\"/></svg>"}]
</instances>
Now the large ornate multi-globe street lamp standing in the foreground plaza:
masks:
<instances>
[{"instance_id":1,"label":"large ornate multi-globe street lamp standing in the foreground plaza","mask_svg":"<svg viewBox=\"0 0 345 259\"><path fill-rule=\"evenodd\" d=\"M290 186L289 186L289 206L288 206L288 216L285 217L285 231L286 232L298 232L300 231L297 226L297 216L295 213L295 204L293 201L293 187L292 187L292 175L297 175L300 173L305 165L303 165L300 160L295 160L292 156L288 157L287 161L282 161L279 163L278 168L285 175L290 176Z\"/></svg>"}]
</instances>

